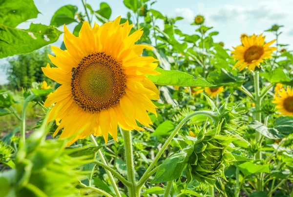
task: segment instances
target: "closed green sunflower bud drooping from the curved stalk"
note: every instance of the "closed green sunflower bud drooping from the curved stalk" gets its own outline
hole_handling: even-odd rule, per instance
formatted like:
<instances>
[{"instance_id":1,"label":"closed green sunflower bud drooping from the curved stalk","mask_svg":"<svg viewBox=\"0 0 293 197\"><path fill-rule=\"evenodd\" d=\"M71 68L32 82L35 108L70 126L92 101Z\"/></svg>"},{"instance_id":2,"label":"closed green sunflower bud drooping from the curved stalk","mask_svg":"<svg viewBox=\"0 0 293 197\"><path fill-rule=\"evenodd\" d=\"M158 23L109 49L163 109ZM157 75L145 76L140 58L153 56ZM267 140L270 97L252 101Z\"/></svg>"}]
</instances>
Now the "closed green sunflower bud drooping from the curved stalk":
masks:
<instances>
[{"instance_id":1,"label":"closed green sunflower bud drooping from the curved stalk","mask_svg":"<svg viewBox=\"0 0 293 197\"><path fill-rule=\"evenodd\" d=\"M231 154L233 148L229 146L235 138L222 134L221 124L215 129L201 129L197 138L183 138L189 144L183 149L188 155L186 174L189 181L194 177L199 182L215 186L217 177L225 178L225 166L235 160Z\"/></svg>"}]
</instances>

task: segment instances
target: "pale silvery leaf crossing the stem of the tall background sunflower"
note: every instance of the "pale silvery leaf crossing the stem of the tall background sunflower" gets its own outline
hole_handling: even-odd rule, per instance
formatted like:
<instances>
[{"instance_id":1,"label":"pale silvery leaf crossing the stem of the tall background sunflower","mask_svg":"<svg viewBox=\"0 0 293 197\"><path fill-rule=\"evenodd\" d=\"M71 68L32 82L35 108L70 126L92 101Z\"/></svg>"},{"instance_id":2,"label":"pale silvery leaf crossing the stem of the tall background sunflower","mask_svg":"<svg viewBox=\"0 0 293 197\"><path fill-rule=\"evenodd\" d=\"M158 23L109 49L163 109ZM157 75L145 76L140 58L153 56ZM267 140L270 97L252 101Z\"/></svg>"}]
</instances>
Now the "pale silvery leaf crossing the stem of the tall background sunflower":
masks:
<instances>
[{"instance_id":1,"label":"pale silvery leaf crossing the stem of the tall background sunflower","mask_svg":"<svg viewBox=\"0 0 293 197\"><path fill-rule=\"evenodd\" d=\"M275 128L268 128L257 120L253 120L249 126L269 139L283 138L282 135L279 134L278 130Z\"/></svg>"}]
</instances>

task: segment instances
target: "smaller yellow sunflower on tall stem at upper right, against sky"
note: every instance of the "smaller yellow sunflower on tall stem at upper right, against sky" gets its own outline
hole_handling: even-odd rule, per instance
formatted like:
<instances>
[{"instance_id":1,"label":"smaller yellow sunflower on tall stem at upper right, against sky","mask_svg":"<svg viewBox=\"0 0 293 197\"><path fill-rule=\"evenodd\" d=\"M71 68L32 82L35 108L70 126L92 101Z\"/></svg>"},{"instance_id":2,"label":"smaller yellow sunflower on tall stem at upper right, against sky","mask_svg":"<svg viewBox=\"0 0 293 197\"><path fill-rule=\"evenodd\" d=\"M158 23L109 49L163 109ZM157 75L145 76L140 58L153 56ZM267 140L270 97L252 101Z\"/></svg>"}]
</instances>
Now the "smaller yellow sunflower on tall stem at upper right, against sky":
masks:
<instances>
[{"instance_id":1,"label":"smaller yellow sunflower on tall stem at upper right, against sky","mask_svg":"<svg viewBox=\"0 0 293 197\"><path fill-rule=\"evenodd\" d=\"M241 41L243 45L233 47L235 51L231 51L234 59L238 60L233 69L239 67L240 71L245 67L254 71L256 66L259 67L259 64L264 62L264 59L272 58L272 52L277 50L276 47L269 47L275 39L265 44L265 36L263 37L262 34L259 36L253 34L250 37L244 37Z\"/></svg>"}]
</instances>

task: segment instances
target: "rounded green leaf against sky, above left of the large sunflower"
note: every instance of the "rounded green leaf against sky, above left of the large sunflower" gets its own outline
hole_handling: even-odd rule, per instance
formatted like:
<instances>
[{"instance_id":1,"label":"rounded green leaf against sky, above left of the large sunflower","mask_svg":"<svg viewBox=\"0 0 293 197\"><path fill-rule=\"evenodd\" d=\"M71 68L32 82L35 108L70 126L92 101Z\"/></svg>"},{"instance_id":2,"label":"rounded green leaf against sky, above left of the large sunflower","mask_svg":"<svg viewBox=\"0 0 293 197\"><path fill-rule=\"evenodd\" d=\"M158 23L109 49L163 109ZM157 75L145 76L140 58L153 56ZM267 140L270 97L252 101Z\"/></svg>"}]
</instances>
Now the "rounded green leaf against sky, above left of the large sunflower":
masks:
<instances>
[{"instance_id":1,"label":"rounded green leaf against sky, above left of the large sunflower","mask_svg":"<svg viewBox=\"0 0 293 197\"><path fill-rule=\"evenodd\" d=\"M53 15L50 25L59 27L63 24L70 24L72 22L77 22L75 20L75 15L77 13L77 6L75 5L64 5L59 8Z\"/></svg>"}]
</instances>

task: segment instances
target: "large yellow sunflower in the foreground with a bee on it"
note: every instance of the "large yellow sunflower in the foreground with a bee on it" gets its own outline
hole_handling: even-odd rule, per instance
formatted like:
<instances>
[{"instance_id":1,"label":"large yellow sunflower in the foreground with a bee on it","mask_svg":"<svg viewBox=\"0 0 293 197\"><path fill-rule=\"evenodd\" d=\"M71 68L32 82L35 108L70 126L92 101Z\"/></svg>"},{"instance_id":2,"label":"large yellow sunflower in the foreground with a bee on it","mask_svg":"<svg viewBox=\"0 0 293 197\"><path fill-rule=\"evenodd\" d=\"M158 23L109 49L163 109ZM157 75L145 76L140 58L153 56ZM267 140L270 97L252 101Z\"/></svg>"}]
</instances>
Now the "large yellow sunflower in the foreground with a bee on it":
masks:
<instances>
[{"instance_id":1,"label":"large yellow sunflower in the foreground with a bee on it","mask_svg":"<svg viewBox=\"0 0 293 197\"><path fill-rule=\"evenodd\" d=\"M58 68L42 68L44 74L62 84L44 103L55 105L48 122L60 123L54 136L63 129L60 138L77 139L91 134L110 134L117 139L117 125L125 130L144 130L137 125L152 125L147 111L156 115L151 102L159 99L157 87L145 76L159 75L154 71L158 61L140 57L147 45L134 43L143 35L142 29L129 35L132 24L120 24L121 17L102 26L90 27L84 22L79 37L64 25L67 50L52 46L56 57L49 55Z\"/></svg>"}]
</instances>

